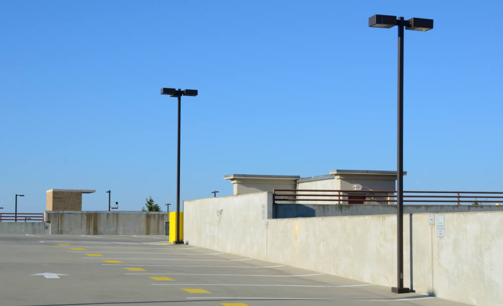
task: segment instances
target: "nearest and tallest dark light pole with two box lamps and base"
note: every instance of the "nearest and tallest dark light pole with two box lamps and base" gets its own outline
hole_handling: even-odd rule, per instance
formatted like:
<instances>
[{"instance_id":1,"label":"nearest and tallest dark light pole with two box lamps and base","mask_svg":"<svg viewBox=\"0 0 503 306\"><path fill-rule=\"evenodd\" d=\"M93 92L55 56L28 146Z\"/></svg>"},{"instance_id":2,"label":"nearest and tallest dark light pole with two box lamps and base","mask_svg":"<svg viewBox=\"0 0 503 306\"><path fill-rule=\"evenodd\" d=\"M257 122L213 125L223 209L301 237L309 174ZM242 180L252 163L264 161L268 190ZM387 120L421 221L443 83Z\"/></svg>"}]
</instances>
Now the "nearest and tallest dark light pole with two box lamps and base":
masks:
<instances>
[{"instance_id":1,"label":"nearest and tallest dark light pole with two box lamps and base","mask_svg":"<svg viewBox=\"0 0 503 306\"><path fill-rule=\"evenodd\" d=\"M433 29L432 19L374 15L369 18L369 27L392 28L398 26L398 133L397 133L397 172L396 172L396 216L397 216L397 278L398 284L392 287L395 293L408 293L403 287L403 27L405 30L428 31Z\"/></svg>"}]
</instances>

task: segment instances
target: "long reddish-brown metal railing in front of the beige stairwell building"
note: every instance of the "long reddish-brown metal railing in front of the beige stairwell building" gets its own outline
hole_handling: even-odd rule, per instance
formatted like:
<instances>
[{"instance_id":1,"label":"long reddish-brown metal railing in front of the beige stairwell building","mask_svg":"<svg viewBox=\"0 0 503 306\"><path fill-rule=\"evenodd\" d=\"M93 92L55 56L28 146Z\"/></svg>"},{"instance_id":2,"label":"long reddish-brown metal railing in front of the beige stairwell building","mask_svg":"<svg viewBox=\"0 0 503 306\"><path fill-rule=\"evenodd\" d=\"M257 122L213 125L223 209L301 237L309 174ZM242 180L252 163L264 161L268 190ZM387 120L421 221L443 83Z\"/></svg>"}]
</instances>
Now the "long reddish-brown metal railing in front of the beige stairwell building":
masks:
<instances>
[{"instance_id":1,"label":"long reddish-brown metal railing in front of the beige stairwell building","mask_svg":"<svg viewBox=\"0 0 503 306\"><path fill-rule=\"evenodd\" d=\"M280 193L278 193L280 192ZM281 193L295 192L295 194ZM299 194L299 192L309 192ZM320 194L334 193L334 194ZM503 192L475 192L475 191L404 191L403 202L407 203L486 203L503 202ZM430 195L414 195L430 194ZM433 195L432 195L433 194ZM444 195L438 195L444 194ZM488 196L494 195L494 196ZM499 195L499 196L496 196ZM288 198L283 198L288 197ZM315 198L300 198L315 197ZM317 199L316 197L333 197L333 199ZM316 189L274 189L273 203L277 201L327 201L327 202L348 202L348 204L367 204L367 202L396 202L396 190L316 190ZM388 199L385 199L388 198ZM392 199L389 199L392 198ZM428 199L428 200L427 200ZM485 199L485 200L480 200ZM490 199L490 200L489 200ZM363 203L356 203L363 202Z\"/></svg>"}]
</instances>

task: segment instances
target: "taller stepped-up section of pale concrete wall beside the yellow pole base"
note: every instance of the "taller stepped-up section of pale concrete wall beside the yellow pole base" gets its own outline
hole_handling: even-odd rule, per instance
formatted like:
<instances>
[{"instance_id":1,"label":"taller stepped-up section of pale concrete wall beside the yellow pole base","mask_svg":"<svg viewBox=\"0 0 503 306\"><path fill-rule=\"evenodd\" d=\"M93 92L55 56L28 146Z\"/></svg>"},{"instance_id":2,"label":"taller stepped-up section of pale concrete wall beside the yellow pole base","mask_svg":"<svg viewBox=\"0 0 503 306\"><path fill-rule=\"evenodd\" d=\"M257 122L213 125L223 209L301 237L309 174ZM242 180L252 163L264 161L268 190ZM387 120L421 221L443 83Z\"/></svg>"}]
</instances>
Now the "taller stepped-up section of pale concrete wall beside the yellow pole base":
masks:
<instances>
[{"instance_id":1,"label":"taller stepped-up section of pale concrete wall beside the yellow pole base","mask_svg":"<svg viewBox=\"0 0 503 306\"><path fill-rule=\"evenodd\" d=\"M272 217L272 193L184 201L186 243L222 252L266 259L266 221ZM265 205L265 219L262 219Z\"/></svg>"}]
</instances>

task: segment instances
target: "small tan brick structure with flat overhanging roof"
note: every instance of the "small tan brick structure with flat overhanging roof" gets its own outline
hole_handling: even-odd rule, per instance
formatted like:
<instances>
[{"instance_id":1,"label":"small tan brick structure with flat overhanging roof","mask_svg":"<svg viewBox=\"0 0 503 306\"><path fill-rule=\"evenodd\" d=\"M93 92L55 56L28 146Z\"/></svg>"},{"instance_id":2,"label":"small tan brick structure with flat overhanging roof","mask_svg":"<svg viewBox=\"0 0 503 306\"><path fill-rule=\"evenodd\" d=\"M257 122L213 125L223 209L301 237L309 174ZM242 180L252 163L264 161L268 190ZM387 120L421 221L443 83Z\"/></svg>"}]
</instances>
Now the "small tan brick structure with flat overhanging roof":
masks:
<instances>
[{"instance_id":1,"label":"small tan brick structure with flat overhanging roof","mask_svg":"<svg viewBox=\"0 0 503 306\"><path fill-rule=\"evenodd\" d=\"M96 190L51 189L47 191L46 211L81 211L82 194Z\"/></svg>"}]
</instances>

